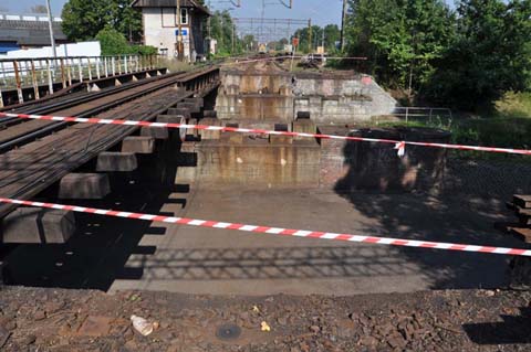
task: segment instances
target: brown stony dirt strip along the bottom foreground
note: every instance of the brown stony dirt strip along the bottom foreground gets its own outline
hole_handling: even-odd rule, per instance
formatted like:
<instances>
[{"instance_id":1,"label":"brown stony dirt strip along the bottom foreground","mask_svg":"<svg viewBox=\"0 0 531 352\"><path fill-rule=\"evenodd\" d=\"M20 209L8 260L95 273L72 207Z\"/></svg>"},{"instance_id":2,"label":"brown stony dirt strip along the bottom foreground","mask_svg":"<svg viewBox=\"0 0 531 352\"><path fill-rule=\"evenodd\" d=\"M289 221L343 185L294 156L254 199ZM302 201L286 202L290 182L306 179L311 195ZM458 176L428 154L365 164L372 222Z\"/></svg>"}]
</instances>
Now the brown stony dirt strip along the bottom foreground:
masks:
<instances>
[{"instance_id":1,"label":"brown stony dirt strip along the bottom foreground","mask_svg":"<svg viewBox=\"0 0 531 352\"><path fill-rule=\"evenodd\" d=\"M529 351L530 302L530 292L498 290L222 297L11 287L0 292L0 350ZM132 314L158 329L142 337Z\"/></svg>"}]
</instances>

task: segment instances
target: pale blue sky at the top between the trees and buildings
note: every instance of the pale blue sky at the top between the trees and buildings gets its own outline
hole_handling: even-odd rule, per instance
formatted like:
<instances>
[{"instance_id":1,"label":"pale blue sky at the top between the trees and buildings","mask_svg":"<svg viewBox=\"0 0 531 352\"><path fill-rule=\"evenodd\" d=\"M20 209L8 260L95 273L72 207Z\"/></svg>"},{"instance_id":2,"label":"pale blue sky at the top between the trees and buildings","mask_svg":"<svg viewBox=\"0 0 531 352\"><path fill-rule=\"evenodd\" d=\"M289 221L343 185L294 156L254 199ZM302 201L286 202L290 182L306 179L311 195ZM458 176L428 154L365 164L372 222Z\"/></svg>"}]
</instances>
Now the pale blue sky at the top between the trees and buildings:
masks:
<instances>
[{"instance_id":1,"label":"pale blue sky at the top between the trees and buildings","mask_svg":"<svg viewBox=\"0 0 531 352\"><path fill-rule=\"evenodd\" d=\"M61 14L61 9L66 0L50 0L54 15ZM90 0L86 0L90 1ZM232 0L237 3L237 0ZM293 9L287 9L281 0L266 0L266 18L278 19L312 19L319 25L329 23L341 23L342 0L293 0ZM289 0L283 0L289 3ZM32 6L45 4L45 0L1 0L0 8L7 8L13 13L25 13ZM208 3L208 0L206 1ZM215 10L233 9L232 17L236 18L260 18L262 12L262 0L241 0L241 8L236 8L230 0L210 0Z\"/></svg>"}]
</instances>

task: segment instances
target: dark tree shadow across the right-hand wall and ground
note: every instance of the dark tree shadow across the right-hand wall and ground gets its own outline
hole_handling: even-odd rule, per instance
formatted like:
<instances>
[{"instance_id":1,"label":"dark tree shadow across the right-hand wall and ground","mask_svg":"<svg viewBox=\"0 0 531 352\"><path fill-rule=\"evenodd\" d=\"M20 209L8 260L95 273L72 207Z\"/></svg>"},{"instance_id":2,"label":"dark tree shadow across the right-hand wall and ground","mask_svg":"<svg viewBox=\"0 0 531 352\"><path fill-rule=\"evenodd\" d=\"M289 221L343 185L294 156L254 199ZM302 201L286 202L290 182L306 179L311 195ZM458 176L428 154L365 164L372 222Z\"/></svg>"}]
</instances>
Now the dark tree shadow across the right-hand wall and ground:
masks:
<instances>
[{"instance_id":1,"label":"dark tree shadow across the right-hand wall and ground","mask_svg":"<svg viewBox=\"0 0 531 352\"><path fill-rule=\"evenodd\" d=\"M521 242L493 228L496 222L510 216L504 209L507 199L486 199L457 192L445 193L444 188L437 194L437 192L431 192L429 183L423 177L417 178L416 183L409 183L407 192L396 189L384 192L374 189L362 191L364 188L360 188L356 182L360 178L360 169L364 169L365 166L360 166L360 161L354 156L355 143L350 142L344 148L347 172L343 179L337 181L335 191L348 200L354 209L363 215L379 222L382 225L379 232L375 233L375 228L367 228L368 235L520 248L524 246ZM381 148L383 149L383 147ZM396 150L393 149L393 146L387 146L387 151L379 151L388 154L387 158L384 158L384 162L397 163ZM409 150L412 148L414 147L409 147ZM375 164L373 161L373 167ZM440 181L440 177L446 177L440 173L438 166L428 163L423 167L428 169L423 172L437 174L435 181ZM393 182L396 184L396 180L406 179L412 182L412 178L406 174L408 172L406 168L388 166L381 166L381 168L394 171L392 174L382 174L381 182L376 180L374 184L392 184ZM373 174L373 177L378 175ZM414 190L414 192L409 192L409 190ZM504 287L508 284L509 256L410 247L397 248L404 258L420 267L433 282L430 287L434 289L496 288Z\"/></svg>"}]
</instances>

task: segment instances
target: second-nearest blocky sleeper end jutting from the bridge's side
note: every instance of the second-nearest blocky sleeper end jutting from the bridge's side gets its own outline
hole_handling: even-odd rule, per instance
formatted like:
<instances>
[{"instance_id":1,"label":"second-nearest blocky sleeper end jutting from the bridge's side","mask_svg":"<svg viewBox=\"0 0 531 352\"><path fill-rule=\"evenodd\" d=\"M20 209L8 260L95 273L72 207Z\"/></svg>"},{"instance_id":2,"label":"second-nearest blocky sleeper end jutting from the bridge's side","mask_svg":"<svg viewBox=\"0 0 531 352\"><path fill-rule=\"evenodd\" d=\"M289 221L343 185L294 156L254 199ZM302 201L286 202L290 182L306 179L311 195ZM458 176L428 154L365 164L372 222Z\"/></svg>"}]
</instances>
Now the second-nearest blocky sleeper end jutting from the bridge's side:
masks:
<instances>
[{"instance_id":1,"label":"second-nearest blocky sleeper end jutting from the bridge's side","mask_svg":"<svg viewBox=\"0 0 531 352\"><path fill-rule=\"evenodd\" d=\"M105 173L69 173L61 179L59 198L67 200L101 200L111 193Z\"/></svg>"}]
</instances>

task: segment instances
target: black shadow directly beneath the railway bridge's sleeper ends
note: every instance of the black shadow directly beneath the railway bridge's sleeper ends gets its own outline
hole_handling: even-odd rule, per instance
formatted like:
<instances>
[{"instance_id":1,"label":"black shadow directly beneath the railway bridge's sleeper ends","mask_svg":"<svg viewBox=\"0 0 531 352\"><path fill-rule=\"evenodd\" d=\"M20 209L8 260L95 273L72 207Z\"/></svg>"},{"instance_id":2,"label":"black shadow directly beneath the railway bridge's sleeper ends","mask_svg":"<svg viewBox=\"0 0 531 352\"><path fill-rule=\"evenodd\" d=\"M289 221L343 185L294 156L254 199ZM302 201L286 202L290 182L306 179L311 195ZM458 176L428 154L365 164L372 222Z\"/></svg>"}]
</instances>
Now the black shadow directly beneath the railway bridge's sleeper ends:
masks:
<instances>
[{"instance_id":1,"label":"black shadow directly beneath the railway bridge's sleeper ends","mask_svg":"<svg viewBox=\"0 0 531 352\"><path fill-rule=\"evenodd\" d=\"M174 134L175 135L175 134ZM101 201L58 200L58 184L37 200L129 212L160 212L171 193L188 193L174 185L180 142L157 141L155 156L138 156L138 170L111 173L112 193ZM162 162L164 160L164 162ZM93 172L94 161L79 172ZM173 200L186 204L186 200ZM149 222L75 213L76 232L64 245L19 245L3 254L4 284L31 287L93 288L107 290L146 234L164 235ZM163 228L164 230L164 228Z\"/></svg>"}]
</instances>

